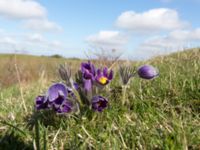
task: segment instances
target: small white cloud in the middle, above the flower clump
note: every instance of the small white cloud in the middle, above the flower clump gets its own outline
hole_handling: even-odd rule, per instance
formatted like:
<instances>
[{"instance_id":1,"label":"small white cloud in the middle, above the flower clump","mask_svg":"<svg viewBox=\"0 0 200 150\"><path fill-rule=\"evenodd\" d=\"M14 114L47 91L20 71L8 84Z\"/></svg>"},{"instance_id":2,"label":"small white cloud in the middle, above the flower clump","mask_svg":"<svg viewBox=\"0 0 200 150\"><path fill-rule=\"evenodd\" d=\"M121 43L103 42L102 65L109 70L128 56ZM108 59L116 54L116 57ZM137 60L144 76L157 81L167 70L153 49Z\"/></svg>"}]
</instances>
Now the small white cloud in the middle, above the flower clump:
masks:
<instances>
[{"instance_id":1,"label":"small white cloud in the middle, above the flower clump","mask_svg":"<svg viewBox=\"0 0 200 150\"><path fill-rule=\"evenodd\" d=\"M128 37L119 31L100 31L88 36L86 41L97 48L121 49L128 42Z\"/></svg>"}]
</instances>

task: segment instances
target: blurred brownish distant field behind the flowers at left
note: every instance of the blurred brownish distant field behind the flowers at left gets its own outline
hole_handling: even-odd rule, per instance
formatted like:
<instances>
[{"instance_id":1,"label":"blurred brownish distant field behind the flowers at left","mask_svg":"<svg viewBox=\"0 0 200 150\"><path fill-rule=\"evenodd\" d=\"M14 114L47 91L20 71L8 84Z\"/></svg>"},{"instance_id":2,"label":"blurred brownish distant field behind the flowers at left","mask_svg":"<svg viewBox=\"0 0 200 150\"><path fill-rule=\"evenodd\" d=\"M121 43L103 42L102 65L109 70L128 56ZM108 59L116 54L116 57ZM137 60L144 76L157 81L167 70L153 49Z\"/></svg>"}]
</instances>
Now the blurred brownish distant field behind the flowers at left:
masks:
<instances>
[{"instance_id":1,"label":"blurred brownish distant field behind the flowers at left","mask_svg":"<svg viewBox=\"0 0 200 150\"><path fill-rule=\"evenodd\" d=\"M17 72L22 82L38 80L43 74L47 79L55 79L60 64L68 63L73 69L80 64L78 59L53 58L30 55L0 55L0 87L18 83Z\"/></svg>"}]
</instances>

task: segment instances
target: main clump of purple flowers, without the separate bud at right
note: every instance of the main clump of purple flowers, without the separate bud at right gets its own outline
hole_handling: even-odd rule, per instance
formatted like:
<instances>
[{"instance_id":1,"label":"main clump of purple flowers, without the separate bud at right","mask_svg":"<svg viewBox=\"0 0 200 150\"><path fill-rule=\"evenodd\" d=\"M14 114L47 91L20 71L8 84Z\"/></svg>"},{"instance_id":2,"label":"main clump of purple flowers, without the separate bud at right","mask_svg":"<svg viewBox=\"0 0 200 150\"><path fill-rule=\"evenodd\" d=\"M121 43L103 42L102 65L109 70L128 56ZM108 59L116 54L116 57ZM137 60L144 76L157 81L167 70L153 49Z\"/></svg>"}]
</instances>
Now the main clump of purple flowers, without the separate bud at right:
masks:
<instances>
[{"instance_id":1,"label":"main clump of purple flowers, without the separate bud at right","mask_svg":"<svg viewBox=\"0 0 200 150\"><path fill-rule=\"evenodd\" d=\"M102 112L108 106L108 100L99 95L97 91L101 91L111 82L113 79L112 70L107 67L103 70L96 69L88 61L81 63L75 81L68 66L61 65L59 73L65 84L55 83L49 87L45 95L36 97L37 110L50 109L58 114L64 114L77 110L74 107L78 107L78 105L87 104L94 111ZM78 101L78 97L80 101Z\"/></svg>"}]
</instances>

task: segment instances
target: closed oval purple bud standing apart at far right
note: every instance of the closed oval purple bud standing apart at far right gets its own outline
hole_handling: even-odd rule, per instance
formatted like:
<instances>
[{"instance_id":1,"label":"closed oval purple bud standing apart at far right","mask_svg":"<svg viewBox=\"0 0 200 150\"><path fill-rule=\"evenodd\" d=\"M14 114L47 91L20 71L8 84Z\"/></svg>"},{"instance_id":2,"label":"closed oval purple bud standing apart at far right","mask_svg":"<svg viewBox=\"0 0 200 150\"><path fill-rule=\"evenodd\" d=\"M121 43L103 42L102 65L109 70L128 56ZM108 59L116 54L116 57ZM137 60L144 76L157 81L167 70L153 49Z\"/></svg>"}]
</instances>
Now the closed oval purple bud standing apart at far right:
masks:
<instances>
[{"instance_id":1,"label":"closed oval purple bud standing apart at far right","mask_svg":"<svg viewBox=\"0 0 200 150\"><path fill-rule=\"evenodd\" d=\"M143 79L153 79L158 76L158 71L151 65L143 65L139 67L138 75Z\"/></svg>"}]
</instances>

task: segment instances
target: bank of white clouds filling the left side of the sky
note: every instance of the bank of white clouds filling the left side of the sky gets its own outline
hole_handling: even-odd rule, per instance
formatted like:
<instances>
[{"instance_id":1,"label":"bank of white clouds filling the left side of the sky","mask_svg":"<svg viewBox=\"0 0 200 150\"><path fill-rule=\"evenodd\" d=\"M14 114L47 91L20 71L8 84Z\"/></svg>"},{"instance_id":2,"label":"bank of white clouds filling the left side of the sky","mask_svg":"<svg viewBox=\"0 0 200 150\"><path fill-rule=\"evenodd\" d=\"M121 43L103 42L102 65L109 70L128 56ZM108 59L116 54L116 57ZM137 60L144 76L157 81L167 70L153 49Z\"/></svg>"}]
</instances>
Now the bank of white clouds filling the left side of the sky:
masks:
<instances>
[{"instance_id":1,"label":"bank of white clouds filling the left side of the sky","mask_svg":"<svg viewBox=\"0 0 200 150\"><path fill-rule=\"evenodd\" d=\"M26 29L26 33L20 34L0 29L1 51L63 49L61 41L44 37L43 33L54 34L63 29L48 19L47 9L36 0L0 0L0 17L11 23L19 23L22 30Z\"/></svg>"}]
</instances>

